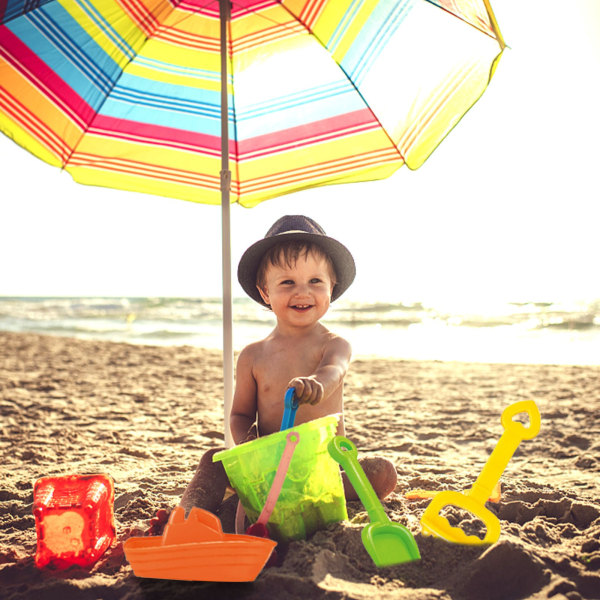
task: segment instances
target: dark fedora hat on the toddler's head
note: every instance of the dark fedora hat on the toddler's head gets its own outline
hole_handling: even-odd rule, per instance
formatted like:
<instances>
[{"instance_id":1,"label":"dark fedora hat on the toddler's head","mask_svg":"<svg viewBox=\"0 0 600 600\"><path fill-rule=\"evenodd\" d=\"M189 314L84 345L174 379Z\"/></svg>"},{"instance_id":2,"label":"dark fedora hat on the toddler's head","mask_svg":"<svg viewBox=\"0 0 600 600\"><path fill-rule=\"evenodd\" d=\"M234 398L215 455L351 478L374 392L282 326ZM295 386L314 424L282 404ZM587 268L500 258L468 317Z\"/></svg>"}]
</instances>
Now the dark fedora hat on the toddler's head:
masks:
<instances>
[{"instance_id":1,"label":"dark fedora hat on the toddler's head","mask_svg":"<svg viewBox=\"0 0 600 600\"><path fill-rule=\"evenodd\" d=\"M356 266L346 246L325 235L323 228L312 219L302 215L286 215L271 226L262 240L252 244L242 255L238 265L238 281L252 298L265 306L256 287L256 274L263 256L273 246L287 241L301 241L319 246L329 256L335 269L336 284L331 300L339 298L354 281Z\"/></svg>"}]
</instances>

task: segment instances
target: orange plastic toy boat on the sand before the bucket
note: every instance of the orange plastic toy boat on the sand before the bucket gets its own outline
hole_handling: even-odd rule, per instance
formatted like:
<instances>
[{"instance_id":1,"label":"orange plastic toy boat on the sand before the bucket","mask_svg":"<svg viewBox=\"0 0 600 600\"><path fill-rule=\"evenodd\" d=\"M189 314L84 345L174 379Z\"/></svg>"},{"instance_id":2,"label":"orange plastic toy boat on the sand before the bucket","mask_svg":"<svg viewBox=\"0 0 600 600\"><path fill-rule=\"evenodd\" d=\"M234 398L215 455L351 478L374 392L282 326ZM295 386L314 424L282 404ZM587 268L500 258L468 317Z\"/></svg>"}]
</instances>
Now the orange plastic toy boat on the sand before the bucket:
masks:
<instances>
[{"instance_id":1,"label":"orange plastic toy boat on the sand before the bucket","mask_svg":"<svg viewBox=\"0 0 600 600\"><path fill-rule=\"evenodd\" d=\"M193 508L187 520L173 510L162 536L132 537L123 544L138 577L188 581L254 581L265 566L274 540L223 533L212 513Z\"/></svg>"}]
</instances>

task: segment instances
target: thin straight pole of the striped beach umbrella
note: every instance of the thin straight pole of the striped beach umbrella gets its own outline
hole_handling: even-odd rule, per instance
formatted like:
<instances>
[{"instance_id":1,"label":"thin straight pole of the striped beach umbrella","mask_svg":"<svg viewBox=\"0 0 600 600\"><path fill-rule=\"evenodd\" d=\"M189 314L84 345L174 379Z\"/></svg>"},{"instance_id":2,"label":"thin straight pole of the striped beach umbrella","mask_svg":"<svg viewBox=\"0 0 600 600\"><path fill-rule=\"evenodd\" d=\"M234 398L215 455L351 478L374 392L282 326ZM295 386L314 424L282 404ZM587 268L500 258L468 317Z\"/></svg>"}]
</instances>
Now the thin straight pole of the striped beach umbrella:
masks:
<instances>
[{"instance_id":1,"label":"thin straight pole of the striped beach umbrella","mask_svg":"<svg viewBox=\"0 0 600 600\"><path fill-rule=\"evenodd\" d=\"M231 448L229 415L233 404L233 310L231 299L231 171L229 170L229 107L227 102L227 26L229 0L220 0L221 22L221 240L223 261L223 385L225 446Z\"/></svg>"}]
</instances>

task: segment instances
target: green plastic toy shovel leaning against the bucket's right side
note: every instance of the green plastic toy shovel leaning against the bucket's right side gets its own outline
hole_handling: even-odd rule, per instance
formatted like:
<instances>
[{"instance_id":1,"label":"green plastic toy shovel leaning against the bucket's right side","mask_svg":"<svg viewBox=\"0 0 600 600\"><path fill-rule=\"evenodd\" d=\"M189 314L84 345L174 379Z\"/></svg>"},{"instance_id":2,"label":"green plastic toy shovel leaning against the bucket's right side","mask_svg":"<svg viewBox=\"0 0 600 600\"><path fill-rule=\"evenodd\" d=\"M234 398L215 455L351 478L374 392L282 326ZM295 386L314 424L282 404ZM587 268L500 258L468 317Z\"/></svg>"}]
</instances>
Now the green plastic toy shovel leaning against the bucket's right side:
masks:
<instances>
[{"instance_id":1,"label":"green plastic toy shovel leaning against the bucket's right side","mask_svg":"<svg viewBox=\"0 0 600 600\"><path fill-rule=\"evenodd\" d=\"M340 463L356 490L360 501L369 514L370 523L361 531L365 550L378 567L389 567L413 560L419 560L419 548L411 532L390 521L375 490L358 463L356 446L345 437L334 437L327 450L331 457Z\"/></svg>"}]
</instances>

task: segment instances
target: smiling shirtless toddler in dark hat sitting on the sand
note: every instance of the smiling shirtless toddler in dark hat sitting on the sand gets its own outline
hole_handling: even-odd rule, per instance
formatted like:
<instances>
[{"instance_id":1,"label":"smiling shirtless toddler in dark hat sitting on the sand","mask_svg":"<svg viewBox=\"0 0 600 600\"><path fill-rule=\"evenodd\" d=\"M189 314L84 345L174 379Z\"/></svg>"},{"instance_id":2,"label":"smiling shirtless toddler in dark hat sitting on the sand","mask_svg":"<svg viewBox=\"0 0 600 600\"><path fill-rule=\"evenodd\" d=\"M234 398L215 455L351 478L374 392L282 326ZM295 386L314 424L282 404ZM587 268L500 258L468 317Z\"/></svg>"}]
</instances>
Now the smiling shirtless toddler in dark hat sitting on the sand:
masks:
<instances>
[{"instance_id":1,"label":"smiling shirtless toddler in dark hat sitting on the sand","mask_svg":"<svg viewBox=\"0 0 600 600\"><path fill-rule=\"evenodd\" d=\"M348 249L301 215L282 217L246 250L238 280L251 298L273 311L277 323L264 340L239 355L230 417L236 444L279 431L290 387L299 403L296 424L339 413L338 435L344 435L343 383L351 348L320 319L355 272ZM180 506L186 513L193 506L213 512L220 506L228 480L222 464L212 462L218 450L202 457L184 492ZM390 461L370 457L360 462L380 498L393 491L397 476ZM344 473L342 479L346 499L356 500ZM154 524L165 517L153 519Z\"/></svg>"}]
</instances>

